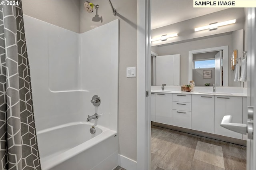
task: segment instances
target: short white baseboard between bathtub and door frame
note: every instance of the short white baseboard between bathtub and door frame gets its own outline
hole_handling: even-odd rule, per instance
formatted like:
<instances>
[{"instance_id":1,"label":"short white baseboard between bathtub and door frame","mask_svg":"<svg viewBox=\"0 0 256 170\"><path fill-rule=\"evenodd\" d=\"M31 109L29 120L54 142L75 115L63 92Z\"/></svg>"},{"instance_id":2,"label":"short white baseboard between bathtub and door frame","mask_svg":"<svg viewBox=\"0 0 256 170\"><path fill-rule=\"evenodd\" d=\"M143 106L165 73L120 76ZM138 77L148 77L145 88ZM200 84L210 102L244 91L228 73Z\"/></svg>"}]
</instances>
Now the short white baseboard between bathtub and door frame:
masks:
<instances>
[{"instance_id":1,"label":"short white baseboard between bathtub and door frame","mask_svg":"<svg viewBox=\"0 0 256 170\"><path fill-rule=\"evenodd\" d=\"M137 170L137 162L127 158L123 155L118 154L117 164L126 170Z\"/></svg>"}]
</instances>

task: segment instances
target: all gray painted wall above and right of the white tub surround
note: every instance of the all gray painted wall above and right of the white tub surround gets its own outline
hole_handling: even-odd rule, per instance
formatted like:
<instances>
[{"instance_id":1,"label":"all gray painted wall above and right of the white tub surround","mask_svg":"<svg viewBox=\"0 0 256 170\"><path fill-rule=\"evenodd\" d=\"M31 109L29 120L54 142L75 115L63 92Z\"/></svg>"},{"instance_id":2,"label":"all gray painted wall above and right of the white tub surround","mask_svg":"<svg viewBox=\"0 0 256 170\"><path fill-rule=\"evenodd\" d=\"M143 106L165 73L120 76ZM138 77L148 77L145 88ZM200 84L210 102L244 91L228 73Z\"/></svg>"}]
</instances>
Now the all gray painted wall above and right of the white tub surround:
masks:
<instances>
[{"instance_id":1,"label":"all gray painted wall above and right of the white tub surround","mask_svg":"<svg viewBox=\"0 0 256 170\"><path fill-rule=\"evenodd\" d=\"M24 14L39 20L83 33L112 20L120 20L119 48L119 154L137 160L137 78L126 77L126 67L137 66L137 0L112 0L115 17L107 0L98 4L103 22L93 22L96 10L84 10L86 0L22 0ZM26 29L26 28L25 28Z\"/></svg>"}]
</instances>

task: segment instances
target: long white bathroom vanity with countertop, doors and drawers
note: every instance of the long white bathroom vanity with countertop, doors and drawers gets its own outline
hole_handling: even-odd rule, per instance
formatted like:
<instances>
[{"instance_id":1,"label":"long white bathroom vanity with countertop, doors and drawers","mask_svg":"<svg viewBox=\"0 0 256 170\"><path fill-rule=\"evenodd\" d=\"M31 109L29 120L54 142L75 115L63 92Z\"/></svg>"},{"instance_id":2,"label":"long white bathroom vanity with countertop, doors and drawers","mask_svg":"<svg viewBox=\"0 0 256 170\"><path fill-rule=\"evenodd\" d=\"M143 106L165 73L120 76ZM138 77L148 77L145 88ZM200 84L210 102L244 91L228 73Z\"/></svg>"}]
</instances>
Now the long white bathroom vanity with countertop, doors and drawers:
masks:
<instances>
[{"instance_id":1,"label":"long white bathroom vanity with countertop, doors and drawers","mask_svg":"<svg viewBox=\"0 0 256 170\"><path fill-rule=\"evenodd\" d=\"M246 123L244 93L151 91L151 121L191 130L246 140L246 136L220 126L224 115Z\"/></svg>"}]
</instances>

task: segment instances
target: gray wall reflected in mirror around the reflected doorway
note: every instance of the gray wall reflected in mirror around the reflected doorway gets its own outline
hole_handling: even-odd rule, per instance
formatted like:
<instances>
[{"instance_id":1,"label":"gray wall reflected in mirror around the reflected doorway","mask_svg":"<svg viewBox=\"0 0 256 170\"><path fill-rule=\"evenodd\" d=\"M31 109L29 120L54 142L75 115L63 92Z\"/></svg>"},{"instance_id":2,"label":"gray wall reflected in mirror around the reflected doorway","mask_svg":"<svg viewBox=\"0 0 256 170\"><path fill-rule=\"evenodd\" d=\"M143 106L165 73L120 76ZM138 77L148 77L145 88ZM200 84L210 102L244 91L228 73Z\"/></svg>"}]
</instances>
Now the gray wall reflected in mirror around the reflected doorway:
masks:
<instances>
[{"instance_id":1,"label":"gray wall reflected in mirror around the reflected doorway","mask_svg":"<svg viewBox=\"0 0 256 170\"><path fill-rule=\"evenodd\" d=\"M228 56L232 55L232 36L218 36L204 40L178 43L158 47L158 55L180 54L180 85L188 84L188 51L228 45ZM229 61L230 62L230 61ZM230 64L229 64L230 65ZM230 72L230 69L229 69Z\"/></svg>"}]
</instances>

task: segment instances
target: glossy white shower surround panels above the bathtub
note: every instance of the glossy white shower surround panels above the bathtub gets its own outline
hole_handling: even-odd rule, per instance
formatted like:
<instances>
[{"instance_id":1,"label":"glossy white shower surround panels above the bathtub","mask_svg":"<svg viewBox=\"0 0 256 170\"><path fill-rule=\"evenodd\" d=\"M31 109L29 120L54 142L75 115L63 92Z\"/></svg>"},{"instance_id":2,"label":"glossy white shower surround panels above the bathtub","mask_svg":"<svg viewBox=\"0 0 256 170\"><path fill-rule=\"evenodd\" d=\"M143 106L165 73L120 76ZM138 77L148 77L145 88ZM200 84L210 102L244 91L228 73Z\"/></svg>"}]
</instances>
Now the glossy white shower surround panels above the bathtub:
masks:
<instances>
[{"instance_id":1,"label":"glossy white shower surround panels above the bathtub","mask_svg":"<svg viewBox=\"0 0 256 170\"><path fill-rule=\"evenodd\" d=\"M98 113L98 125L117 131L118 20L83 34L29 16L24 26L37 130Z\"/></svg>"}]
</instances>

